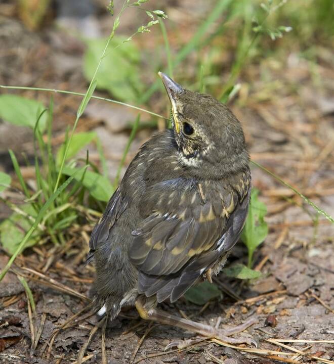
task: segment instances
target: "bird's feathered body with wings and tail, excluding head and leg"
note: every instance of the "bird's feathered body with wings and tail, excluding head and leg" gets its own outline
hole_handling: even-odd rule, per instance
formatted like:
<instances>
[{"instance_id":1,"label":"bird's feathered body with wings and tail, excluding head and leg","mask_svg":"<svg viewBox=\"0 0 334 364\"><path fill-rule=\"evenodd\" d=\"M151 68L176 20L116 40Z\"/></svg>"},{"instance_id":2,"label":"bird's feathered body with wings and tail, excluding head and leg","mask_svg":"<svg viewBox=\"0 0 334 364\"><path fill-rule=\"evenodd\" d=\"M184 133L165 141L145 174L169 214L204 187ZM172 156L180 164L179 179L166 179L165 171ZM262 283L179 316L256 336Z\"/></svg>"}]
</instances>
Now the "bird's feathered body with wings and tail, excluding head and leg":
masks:
<instances>
[{"instance_id":1,"label":"bird's feathered body with wings and tail, excluding head and leg","mask_svg":"<svg viewBox=\"0 0 334 364\"><path fill-rule=\"evenodd\" d=\"M130 304L138 294L156 295L159 302L178 299L235 244L249 187L247 170L216 180L194 178L180 164L174 132L153 136L91 236L98 304L117 314L127 295Z\"/></svg>"}]
</instances>

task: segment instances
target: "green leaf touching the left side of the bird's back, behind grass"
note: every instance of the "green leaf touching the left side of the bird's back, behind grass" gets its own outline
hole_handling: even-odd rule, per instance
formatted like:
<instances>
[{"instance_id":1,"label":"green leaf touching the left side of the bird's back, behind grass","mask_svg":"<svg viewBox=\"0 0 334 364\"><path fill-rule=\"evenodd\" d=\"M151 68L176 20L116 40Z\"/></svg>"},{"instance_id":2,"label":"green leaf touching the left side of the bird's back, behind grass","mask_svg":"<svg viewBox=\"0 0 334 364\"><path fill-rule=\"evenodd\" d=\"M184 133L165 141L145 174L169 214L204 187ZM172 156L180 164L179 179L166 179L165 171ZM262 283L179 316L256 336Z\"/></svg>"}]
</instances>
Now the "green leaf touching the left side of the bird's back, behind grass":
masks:
<instances>
[{"instance_id":1,"label":"green leaf touching the left side of the bird's back, behind grass","mask_svg":"<svg viewBox=\"0 0 334 364\"><path fill-rule=\"evenodd\" d=\"M62 173L71 176L77 170L77 168L65 166ZM82 185L84 185L87 190L89 190L91 196L99 201L108 202L114 191L109 179L90 170L86 170L85 174L84 171L77 172L74 179L81 181L82 175L84 175L84 178L82 179Z\"/></svg>"}]
</instances>

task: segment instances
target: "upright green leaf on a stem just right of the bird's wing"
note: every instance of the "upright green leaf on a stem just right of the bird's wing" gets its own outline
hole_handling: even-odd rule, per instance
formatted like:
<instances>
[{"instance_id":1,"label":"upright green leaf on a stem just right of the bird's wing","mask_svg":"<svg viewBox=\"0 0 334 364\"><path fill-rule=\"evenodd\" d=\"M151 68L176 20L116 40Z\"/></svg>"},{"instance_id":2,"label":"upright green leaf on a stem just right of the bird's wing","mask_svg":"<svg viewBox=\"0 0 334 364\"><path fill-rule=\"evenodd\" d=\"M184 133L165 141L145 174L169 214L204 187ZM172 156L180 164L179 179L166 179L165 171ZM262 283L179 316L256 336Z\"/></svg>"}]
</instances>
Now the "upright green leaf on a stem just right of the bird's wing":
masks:
<instances>
[{"instance_id":1,"label":"upright green leaf on a stem just right of the bird's wing","mask_svg":"<svg viewBox=\"0 0 334 364\"><path fill-rule=\"evenodd\" d=\"M248 268L252 265L255 249L266 239L268 225L264 220L267 213L266 205L258 199L259 190L253 189L248 216L244 225L241 240L248 248Z\"/></svg>"}]
</instances>

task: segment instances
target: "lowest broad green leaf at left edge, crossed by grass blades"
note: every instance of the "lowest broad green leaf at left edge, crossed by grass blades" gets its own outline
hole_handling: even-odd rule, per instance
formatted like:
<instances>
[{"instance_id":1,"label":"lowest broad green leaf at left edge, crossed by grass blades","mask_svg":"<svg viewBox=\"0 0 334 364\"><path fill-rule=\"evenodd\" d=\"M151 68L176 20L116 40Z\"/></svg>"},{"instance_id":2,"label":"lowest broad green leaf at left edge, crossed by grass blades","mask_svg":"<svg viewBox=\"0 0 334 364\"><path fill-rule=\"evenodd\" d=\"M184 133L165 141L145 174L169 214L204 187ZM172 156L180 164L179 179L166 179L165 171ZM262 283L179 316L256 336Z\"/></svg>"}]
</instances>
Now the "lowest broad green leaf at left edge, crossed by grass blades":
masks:
<instances>
[{"instance_id":1,"label":"lowest broad green leaf at left edge, crossed by grass blades","mask_svg":"<svg viewBox=\"0 0 334 364\"><path fill-rule=\"evenodd\" d=\"M36 212L31 206L31 204L25 204L19 206L22 211L32 216L36 217ZM19 214L18 212L13 212L12 215L0 223L0 242L3 248L9 253L13 254L18 248L22 239L25 236L26 231L29 230L31 226L31 221L27 217ZM38 240L38 232L32 234L25 245L25 247L33 246Z\"/></svg>"}]
</instances>

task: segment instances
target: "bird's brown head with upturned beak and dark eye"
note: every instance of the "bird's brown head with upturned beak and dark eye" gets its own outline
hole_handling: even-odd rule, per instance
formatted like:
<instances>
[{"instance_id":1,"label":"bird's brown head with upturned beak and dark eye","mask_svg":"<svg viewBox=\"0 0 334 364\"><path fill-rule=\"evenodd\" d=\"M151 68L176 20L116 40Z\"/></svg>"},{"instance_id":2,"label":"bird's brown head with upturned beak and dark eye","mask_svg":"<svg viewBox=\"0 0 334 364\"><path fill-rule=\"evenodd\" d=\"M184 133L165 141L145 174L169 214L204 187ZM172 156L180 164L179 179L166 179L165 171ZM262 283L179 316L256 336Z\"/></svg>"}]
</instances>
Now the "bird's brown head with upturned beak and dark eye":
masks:
<instances>
[{"instance_id":1,"label":"bird's brown head with upturned beak and dark eye","mask_svg":"<svg viewBox=\"0 0 334 364\"><path fill-rule=\"evenodd\" d=\"M210 95L185 89L164 73L159 76L171 101L181 163L224 172L246 168L249 157L244 135L232 112ZM216 173L211 170L211 174Z\"/></svg>"}]
</instances>

